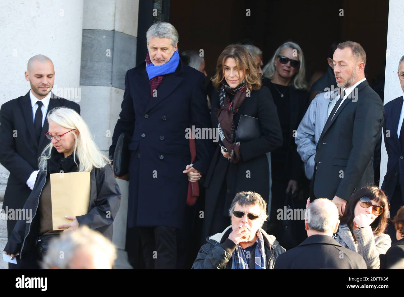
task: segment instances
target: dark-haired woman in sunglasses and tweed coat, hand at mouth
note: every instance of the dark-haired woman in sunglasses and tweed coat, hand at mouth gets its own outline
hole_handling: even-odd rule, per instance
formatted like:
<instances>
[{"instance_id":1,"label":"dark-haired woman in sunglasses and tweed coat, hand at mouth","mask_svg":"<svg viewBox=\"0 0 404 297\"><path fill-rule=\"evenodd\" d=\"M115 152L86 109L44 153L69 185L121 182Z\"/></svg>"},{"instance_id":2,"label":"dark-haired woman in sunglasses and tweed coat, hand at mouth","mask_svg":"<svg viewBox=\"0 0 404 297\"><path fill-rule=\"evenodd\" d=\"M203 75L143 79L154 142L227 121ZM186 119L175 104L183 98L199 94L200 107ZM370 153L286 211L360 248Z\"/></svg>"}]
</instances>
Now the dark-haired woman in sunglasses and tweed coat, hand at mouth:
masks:
<instances>
[{"instance_id":1,"label":"dark-haired woman in sunglasses and tweed coat, hand at mouth","mask_svg":"<svg viewBox=\"0 0 404 297\"><path fill-rule=\"evenodd\" d=\"M378 187L363 187L345 206L334 239L343 247L359 253L368 269L379 269L379 255L391 246L384 234L389 214L387 197Z\"/></svg>"}]
</instances>

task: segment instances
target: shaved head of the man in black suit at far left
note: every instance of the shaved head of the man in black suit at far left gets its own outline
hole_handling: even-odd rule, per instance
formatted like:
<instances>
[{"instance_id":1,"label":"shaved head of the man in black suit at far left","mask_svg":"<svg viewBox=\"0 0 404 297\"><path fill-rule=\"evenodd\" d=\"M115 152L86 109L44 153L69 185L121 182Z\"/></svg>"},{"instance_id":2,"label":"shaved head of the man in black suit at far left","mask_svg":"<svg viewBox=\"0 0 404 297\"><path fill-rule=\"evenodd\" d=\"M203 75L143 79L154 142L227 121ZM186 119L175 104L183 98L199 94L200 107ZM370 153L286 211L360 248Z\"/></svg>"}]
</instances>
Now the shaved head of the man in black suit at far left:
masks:
<instances>
[{"instance_id":1,"label":"shaved head of the man in black suit at far left","mask_svg":"<svg viewBox=\"0 0 404 297\"><path fill-rule=\"evenodd\" d=\"M36 55L28 60L25 79L31 85L32 93L43 99L53 88L55 70L52 61L44 55Z\"/></svg>"}]
</instances>

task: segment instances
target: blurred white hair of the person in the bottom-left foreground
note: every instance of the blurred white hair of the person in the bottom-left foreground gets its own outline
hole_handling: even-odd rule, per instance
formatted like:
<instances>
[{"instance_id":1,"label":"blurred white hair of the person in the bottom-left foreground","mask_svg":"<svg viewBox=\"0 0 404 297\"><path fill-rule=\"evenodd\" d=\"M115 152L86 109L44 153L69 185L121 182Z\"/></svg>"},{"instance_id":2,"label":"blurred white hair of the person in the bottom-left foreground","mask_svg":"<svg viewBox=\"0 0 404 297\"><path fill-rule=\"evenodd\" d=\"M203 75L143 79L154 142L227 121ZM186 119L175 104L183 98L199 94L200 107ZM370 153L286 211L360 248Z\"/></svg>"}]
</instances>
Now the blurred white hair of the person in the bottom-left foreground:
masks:
<instances>
[{"instance_id":1,"label":"blurred white hair of the person in the bottom-left foreground","mask_svg":"<svg viewBox=\"0 0 404 297\"><path fill-rule=\"evenodd\" d=\"M82 249L86 249L90 255L101 255L102 260L109 261L108 263L113 263L116 259L114 244L101 233L83 226L51 240L42 268L71 269L70 263Z\"/></svg>"}]
</instances>

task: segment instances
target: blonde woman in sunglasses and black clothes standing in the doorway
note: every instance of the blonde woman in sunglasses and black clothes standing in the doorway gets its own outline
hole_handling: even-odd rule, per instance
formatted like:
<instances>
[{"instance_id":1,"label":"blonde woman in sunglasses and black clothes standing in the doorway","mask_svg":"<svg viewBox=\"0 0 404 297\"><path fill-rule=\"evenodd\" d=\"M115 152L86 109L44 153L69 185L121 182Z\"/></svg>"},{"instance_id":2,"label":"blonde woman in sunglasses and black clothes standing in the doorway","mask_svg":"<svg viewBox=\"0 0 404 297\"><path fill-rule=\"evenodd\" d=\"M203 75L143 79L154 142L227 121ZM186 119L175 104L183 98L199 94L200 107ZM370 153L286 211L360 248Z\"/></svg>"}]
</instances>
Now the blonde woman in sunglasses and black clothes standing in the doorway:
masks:
<instances>
[{"instance_id":1,"label":"blonde woman in sunglasses and black clothes standing in the doorway","mask_svg":"<svg viewBox=\"0 0 404 297\"><path fill-rule=\"evenodd\" d=\"M300 46L294 42L285 42L263 69L262 84L269 88L277 107L282 129L283 144L271 152L272 167L272 203L269 220L269 232L278 235L286 249L290 246L282 243L282 230L278 230L277 210L283 209L286 194L296 196L301 179L302 160L297 153L295 132L307 110L308 93L305 78L305 60ZM307 190L308 190L308 182ZM308 192L305 196L308 196ZM304 207L304 206L303 206ZM303 222L302 222L303 223ZM304 230L303 226L297 230ZM302 232L302 236L305 233ZM304 238L299 238L301 241ZM296 244L299 242L296 241Z\"/></svg>"}]
</instances>

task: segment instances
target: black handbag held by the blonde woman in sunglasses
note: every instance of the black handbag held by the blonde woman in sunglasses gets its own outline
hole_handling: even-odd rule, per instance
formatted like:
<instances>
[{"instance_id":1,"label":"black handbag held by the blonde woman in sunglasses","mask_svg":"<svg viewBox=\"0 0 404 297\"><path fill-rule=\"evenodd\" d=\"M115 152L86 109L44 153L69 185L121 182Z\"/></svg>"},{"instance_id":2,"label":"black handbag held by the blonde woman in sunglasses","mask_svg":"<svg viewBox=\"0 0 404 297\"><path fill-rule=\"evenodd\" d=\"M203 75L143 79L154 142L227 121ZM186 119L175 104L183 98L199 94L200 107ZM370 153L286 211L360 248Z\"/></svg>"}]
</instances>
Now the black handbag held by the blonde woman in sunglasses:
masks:
<instances>
[{"instance_id":1,"label":"black handbag held by the blonde woman in sunglasses","mask_svg":"<svg viewBox=\"0 0 404 297\"><path fill-rule=\"evenodd\" d=\"M290 210L289 210L290 209ZM286 194L286 199L284 203L284 208L282 211L286 211L288 214L290 211L294 213L295 209L295 202L293 202L293 195L292 191L290 190L288 194ZM296 232L296 218L293 219L285 219L287 215L280 220L279 223L279 238L278 241L281 242L281 245L286 249L292 249L297 246L299 242L299 238Z\"/></svg>"}]
</instances>

